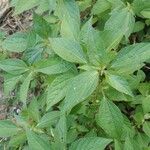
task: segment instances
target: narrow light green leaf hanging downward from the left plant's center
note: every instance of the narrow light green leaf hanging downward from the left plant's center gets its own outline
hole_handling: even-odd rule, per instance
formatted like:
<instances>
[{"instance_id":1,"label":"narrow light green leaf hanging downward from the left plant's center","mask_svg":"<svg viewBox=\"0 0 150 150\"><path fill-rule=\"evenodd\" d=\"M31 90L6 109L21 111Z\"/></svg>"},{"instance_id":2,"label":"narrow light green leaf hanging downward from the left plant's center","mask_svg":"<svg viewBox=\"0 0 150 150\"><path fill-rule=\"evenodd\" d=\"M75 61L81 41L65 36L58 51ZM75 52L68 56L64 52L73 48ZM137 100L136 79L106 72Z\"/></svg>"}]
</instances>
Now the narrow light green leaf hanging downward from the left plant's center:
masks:
<instances>
[{"instance_id":1,"label":"narrow light green leaf hanging downward from the left plant's center","mask_svg":"<svg viewBox=\"0 0 150 150\"><path fill-rule=\"evenodd\" d=\"M30 73L28 76L24 79L21 87L20 87L20 101L26 104L26 99L28 96L28 89L30 86L30 81L32 80L33 74Z\"/></svg>"}]
</instances>

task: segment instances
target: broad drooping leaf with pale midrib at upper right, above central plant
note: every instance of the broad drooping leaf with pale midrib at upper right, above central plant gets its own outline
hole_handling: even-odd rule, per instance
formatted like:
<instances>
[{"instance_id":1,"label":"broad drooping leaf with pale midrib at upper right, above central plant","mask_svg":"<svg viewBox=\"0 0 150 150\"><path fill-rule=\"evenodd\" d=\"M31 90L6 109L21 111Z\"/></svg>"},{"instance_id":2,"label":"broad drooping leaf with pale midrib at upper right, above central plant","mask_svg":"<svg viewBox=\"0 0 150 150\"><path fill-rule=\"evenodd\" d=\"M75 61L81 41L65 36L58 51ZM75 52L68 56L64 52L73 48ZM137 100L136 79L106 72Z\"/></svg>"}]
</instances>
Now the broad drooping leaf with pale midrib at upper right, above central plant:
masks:
<instances>
[{"instance_id":1,"label":"broad drooping leaf with pale midrib at upper right, above central plant","mask_svg":"<svg viewBox=\"0 0 150 150\"><path fill-rule=\"evenodd\" d=\"M133 32L135 19L130 8L114 9L105 24L105 30L120 31L127 38Z\"/></svg>"}]
</instances>

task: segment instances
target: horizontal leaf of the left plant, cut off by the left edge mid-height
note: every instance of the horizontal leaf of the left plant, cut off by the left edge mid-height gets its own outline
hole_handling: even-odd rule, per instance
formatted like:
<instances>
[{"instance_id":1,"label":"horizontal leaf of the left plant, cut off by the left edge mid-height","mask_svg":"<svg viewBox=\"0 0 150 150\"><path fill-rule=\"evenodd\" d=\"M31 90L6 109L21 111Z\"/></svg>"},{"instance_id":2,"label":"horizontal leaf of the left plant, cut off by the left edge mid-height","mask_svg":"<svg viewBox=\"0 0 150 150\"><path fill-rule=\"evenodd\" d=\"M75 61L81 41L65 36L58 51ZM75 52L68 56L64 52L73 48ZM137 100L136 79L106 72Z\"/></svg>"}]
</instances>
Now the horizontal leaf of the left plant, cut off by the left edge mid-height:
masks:
<instances>
[{"instance_id":1,"label":"horizontal leaf of the left plant, cut off by the left edge mid-height","mask_svg":"<svg viewBox=\"0 0 150 150\"><path fill-rule=\"evenodd\" d=\"M20 59L5 59L0 61L0 69L10 73L10 74L22 74L28 71L28 67Z\"/></svg>"}]
</instances>

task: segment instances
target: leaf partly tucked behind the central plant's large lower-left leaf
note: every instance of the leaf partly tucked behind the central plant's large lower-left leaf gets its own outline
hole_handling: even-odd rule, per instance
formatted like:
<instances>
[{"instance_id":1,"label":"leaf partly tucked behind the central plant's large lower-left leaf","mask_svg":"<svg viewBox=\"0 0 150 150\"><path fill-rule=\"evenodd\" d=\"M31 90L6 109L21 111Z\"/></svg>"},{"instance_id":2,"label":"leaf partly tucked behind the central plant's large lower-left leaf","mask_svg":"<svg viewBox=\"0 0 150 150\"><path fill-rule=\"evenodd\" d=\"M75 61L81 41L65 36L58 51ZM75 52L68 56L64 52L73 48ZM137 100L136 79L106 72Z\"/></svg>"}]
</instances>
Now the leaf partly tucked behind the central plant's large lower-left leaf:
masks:
<instances>
[{"instance_id":1,"label":"leaf partly tucked behind the central plant's large lower-left leaf","mask_svg":"<svg viewBox=\"0 0 150 150\"><path fill-rule=\"evenodd\" d=\"M67 85L72 77L72 74L63 74L50 84L47 89L47 110L65 97Z\"/></svg>"}]
</instances>

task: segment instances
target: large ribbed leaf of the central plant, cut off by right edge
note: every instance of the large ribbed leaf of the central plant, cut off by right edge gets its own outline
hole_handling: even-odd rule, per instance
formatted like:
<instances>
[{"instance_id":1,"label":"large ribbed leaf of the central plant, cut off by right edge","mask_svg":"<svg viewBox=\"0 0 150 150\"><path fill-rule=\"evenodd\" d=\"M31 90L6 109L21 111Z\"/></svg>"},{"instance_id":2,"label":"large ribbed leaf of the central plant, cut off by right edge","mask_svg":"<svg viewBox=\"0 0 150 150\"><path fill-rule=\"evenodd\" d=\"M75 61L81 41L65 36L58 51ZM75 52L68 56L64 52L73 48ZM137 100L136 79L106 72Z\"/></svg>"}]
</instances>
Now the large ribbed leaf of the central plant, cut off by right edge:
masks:
<instances>
[{"instance_id":1,"label":"large ribbed leaf of the central plant, cut off by right edge","mask_svg":"<svg viewBox=\"0 0 150 150\"><path fill-rule=\"evenodd\" d=\"M119 73L133 73L140 69L143 63L150 58L150 44L139 43L123 48L111 68Z\"/></svg>"}]
</instances>

